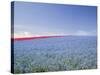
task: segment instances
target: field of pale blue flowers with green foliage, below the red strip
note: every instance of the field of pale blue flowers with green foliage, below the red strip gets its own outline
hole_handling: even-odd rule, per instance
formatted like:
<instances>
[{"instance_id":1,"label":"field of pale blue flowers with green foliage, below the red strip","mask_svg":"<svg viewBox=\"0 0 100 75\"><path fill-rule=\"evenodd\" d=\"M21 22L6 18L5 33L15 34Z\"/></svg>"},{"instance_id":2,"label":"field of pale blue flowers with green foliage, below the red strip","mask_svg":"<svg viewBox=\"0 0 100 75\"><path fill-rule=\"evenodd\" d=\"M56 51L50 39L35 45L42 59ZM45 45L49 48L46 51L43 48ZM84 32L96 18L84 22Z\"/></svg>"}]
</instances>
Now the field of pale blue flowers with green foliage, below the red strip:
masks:
<instances>
[{"instance_id":1,"label":"field of pale blue flowers with green foliage, below the red strip","mask_svg":"<svg viewBox=\"0 0 100 75\"><path fill-rule=\"evenodd\" d=\"M14 73L96 68L96 36L66 36L14 42Z\"/></svg>"}]
</instances>

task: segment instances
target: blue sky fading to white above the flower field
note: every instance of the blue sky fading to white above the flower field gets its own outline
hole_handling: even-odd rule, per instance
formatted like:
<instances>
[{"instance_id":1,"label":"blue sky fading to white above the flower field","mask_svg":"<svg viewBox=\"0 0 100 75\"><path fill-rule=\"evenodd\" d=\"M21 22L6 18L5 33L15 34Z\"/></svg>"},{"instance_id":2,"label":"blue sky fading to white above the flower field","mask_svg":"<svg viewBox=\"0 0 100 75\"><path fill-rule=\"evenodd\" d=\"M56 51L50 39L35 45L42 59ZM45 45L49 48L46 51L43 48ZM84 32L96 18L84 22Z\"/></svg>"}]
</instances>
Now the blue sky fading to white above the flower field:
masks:
<instances>
[{"instance_id":1,"label":"blue sky fading to white above the flower field","mask_svg":"<svg viewBox=\"0 0 100 75\"><path fill-rule=\"evenodd\" d=\"M14 35L97 35L97 7L14 2Z\"/></svg>"}]
</instances>

